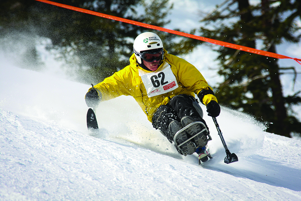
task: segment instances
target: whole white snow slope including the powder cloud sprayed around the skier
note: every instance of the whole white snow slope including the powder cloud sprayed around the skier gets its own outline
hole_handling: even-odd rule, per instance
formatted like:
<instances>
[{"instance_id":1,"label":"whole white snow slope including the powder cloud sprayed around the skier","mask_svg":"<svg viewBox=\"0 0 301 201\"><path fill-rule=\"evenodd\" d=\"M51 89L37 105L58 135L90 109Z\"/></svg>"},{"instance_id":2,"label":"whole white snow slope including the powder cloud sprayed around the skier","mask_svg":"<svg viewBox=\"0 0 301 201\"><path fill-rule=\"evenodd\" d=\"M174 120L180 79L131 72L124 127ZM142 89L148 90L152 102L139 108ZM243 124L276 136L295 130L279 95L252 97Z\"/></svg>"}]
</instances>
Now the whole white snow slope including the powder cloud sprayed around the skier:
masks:
<instances>
[{"instance_id":1,"label":"whole white snow slope including the powder cloud sprayed around the skier","mask_svg":"<svg viewBox=\"0 0 301 201\"><path fill-rule=\"evenodd\" d=\"M225 164L204 115L213 160L198 166L132 97L102 102L92 137L89 85L0 60L0 200L301 200L301 141L266 133L251 116L222 107L217 121L239 159Z\"/></svg>"}]
</instances>

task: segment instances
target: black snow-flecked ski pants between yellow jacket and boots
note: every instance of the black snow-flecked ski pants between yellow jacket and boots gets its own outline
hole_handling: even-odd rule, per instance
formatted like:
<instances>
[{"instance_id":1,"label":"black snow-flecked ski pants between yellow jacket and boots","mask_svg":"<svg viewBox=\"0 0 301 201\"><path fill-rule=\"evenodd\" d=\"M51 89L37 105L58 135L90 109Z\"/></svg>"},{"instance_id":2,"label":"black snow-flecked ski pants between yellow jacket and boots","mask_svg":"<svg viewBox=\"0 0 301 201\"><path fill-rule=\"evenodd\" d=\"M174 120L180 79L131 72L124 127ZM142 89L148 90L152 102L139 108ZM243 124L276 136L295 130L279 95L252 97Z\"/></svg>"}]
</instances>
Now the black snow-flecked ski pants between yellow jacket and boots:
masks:
<instances>
[{"instance_id":1,"label":"black snow-flecked ski pants between yellow jacket and boots","mask_svg":"<svg viewBox=\"0 0 301 201\"><path fill-rule=\"evenodd\" d=\"M201 118L196 108L193 106L193 101L196 99L193 96L186 94L179 94L174 97L166 105L160 105L153 116L153 127L160 129L163 134L167 137L168 126L170 122L177 120L181 122L181 119L185 116L190 116L196 121L202 121L205 125L206 122ZM169 139L172 140L173 139Z\"/></svg>"}]
</instances>

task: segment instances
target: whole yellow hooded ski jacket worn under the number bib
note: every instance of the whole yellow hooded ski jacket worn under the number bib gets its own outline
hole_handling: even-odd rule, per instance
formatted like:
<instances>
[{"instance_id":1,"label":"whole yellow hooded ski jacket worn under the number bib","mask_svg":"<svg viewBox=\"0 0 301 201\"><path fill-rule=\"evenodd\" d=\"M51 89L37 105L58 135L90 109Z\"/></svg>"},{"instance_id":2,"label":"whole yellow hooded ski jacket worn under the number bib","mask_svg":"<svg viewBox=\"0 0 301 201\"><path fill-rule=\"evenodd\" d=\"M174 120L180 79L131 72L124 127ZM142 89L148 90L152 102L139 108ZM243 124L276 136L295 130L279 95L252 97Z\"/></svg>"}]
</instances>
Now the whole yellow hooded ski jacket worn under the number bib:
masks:
<instances>
[{"instance_id":1,"label":"whole yellow hooded ski jacket worn under the number bib","mask_svg":"<svg viewBox=\"0 0 301 201\"><path fill-rule=\"evenodd\" d=\"M163 62L161 62L157 71L160 71L164 62L170 64L172 73L175 75L178 83L178 88L168 93L148 97L147 90L139 76L138 69L146 73L151 73L153 71L147 71L140 66L137 66L137 60L135 54L133 54L130 57L130 64L128 66L94 86L101 92L101 101L113 99L121 95L133 96L147 115L148 120L152 122L154 112L157 108L160 105L166 105L173 96L178 94L194 96L194 93L198 94L203 89L212 90L200 71L198 71L192 64L182 58L167 54L166 51L164 52L165 55ZM215 100L217 102L216 97L212 94L205 95L203 98L203 104L207 105L211 100Z\"/></svg>"}]
</instances>

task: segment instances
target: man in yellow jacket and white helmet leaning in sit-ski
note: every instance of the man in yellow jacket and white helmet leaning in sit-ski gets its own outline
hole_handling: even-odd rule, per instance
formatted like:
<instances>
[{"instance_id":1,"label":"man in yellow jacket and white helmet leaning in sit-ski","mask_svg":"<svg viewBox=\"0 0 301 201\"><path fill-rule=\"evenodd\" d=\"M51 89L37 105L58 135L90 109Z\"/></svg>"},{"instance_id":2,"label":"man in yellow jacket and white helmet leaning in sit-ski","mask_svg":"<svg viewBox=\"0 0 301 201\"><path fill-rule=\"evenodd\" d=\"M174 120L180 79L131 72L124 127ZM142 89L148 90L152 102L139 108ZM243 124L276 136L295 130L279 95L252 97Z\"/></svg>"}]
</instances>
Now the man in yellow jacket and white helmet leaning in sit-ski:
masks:
<instances>
[{"instance_id":1,"label":"man in yellow jacket and white helmet leaning in sit-ski","mask_svg":"<svg viewBox=\"0 0 301 201\"><path fill-rule=\"evenodd\" d=\"M203 130L180 149L176 146L183 155L197 152L200 157L206 150L209 131L197 110L201 110L200 106L194 107L194 94L206 105L208 115L217 117L220 106L212 88L192 64L168 54L155 33L138 35L133 49L128 66L88 90L85 95L87 106L96 107L101 101L121 95L133 96L153 127L160 129L171 143L183 127L201 121L203 124L193 124L175 138L180 144Z\"/></svg>"}]
</instances>

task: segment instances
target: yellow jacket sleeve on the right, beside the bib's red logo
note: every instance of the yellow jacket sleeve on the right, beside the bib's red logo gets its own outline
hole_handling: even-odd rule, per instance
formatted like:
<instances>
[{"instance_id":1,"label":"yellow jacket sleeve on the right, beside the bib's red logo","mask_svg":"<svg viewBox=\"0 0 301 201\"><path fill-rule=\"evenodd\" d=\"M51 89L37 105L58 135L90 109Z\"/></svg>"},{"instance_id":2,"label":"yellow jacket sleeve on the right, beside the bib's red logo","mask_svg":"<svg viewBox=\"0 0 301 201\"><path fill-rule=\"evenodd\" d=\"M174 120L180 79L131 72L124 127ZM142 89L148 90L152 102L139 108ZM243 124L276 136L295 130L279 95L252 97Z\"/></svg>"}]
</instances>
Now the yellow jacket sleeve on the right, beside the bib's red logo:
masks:
<instances>
[{"instance_id":1,"label":"yellow jacket sleeve on the right, beside the bib's red logo","mask_svg":"<svg viewBox=\"0 0 301 201\"><path fill-rule=\"evenodd\" d=\"M188 61L182 58L173 57L175 61L174 64L178 70L178 80L179 82L189 91L199 94L202 90L213 90L200 73L197 68L195 68ZM207 105L211 100L217 102L216 97L213 94L207 94L203 96L202 103Z\"/></svg>"}]
</instances>

